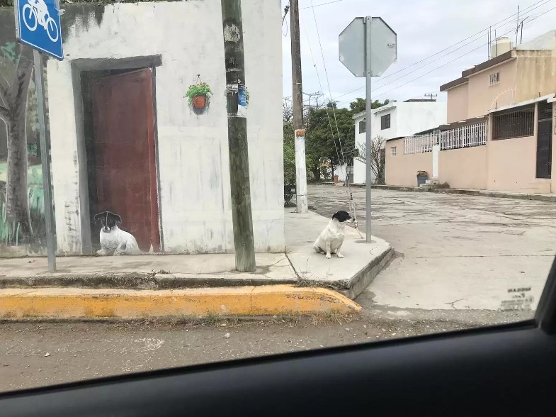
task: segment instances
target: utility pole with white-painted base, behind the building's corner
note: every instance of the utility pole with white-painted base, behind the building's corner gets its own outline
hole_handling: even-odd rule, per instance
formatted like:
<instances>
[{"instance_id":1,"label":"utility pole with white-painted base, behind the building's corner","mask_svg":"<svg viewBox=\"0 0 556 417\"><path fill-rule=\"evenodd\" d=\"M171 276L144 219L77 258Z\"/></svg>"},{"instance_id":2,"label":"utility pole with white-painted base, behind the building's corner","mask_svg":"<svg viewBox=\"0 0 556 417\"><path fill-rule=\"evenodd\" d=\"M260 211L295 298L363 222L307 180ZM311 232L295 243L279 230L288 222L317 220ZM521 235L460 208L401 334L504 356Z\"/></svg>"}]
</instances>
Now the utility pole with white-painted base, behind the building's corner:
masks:
<instances>
[{"instance_id":1,"label":"utility pole with white-painted base, behind the building's corner","mask_svg":"<svg viewBox=\"0 0 556 417\"><path fill-rule=\"evenodd\" d=\"M303 89L301 84L301 46L299 36L299 2L290 0L292 38L292 101L295 132L295 194L297 213L307 213L307 167L305 165L305 129L303 128Z\"/></svg>"}]
</instances>

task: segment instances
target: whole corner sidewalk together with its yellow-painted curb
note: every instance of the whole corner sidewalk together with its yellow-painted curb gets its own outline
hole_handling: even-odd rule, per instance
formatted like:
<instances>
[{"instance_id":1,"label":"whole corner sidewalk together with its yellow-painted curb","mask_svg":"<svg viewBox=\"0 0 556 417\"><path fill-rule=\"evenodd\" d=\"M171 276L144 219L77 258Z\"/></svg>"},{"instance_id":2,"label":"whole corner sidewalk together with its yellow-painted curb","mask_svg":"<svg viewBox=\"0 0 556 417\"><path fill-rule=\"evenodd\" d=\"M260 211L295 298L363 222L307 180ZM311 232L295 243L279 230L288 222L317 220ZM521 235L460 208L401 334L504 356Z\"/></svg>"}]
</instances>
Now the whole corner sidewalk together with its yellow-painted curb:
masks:
<instances>
[{"instance_id":1,"label":"whole corner sidewalk together with its yellow-painted curb","mask_svg":"<svg viewBox=\"0 0 556 417\"><path fill-rule=\"evenodd\" d=\"M236 272L233 254L59 257L54 273L44 257L1 259L0 318L360 311L350 299L393 250L384 240L366 243L346 228L346 257L327 260L312 245L328 222L317 213L286 211L286 253L256 254L254 273Z\"/></svg>"}]
</instances>

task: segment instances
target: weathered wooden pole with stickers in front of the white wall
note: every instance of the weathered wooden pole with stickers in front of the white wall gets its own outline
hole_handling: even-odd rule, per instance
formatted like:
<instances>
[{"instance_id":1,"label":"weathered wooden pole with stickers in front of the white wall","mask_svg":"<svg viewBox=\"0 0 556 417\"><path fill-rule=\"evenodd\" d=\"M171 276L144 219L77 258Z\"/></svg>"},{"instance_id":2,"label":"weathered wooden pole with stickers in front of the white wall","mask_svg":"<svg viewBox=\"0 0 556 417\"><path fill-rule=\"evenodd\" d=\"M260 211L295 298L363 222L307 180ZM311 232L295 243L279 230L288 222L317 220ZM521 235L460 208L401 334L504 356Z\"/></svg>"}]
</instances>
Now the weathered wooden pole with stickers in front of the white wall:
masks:
<instances>
[{"instance_id":1,"label":"weathered wooden pole with stickers in front of the white wall","mask_svg":"<svg viewBox=\"0 0 556 417\"><path fill-rule=\"evenodd\" d=\"M255 244L249 184L249 151L241 0L221 0L226 66L229 179L236 269L254 272Z\"/></svg>"}]
</instances>

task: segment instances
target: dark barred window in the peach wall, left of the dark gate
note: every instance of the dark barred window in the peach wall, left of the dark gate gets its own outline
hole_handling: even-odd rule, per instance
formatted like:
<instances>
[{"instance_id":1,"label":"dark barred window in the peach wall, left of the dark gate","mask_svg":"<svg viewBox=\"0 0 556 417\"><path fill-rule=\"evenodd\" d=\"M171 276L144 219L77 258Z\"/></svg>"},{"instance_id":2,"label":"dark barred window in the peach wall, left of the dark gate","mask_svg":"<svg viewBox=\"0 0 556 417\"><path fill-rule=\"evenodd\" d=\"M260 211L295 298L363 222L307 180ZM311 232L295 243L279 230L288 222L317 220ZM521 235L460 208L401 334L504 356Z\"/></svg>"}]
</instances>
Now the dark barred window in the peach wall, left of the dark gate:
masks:
<instances>
[{"instance_id":1,"label":"dark barred window in the peach wall, left of the dark gate","mask_svg":"<svg viewBox=\"0 0 556 417\"><path fill-rule=\"evenodd\" d=\"M496 113L492 118L492 140L533 136L535 105Z\"/></svg>"}]
</instances>

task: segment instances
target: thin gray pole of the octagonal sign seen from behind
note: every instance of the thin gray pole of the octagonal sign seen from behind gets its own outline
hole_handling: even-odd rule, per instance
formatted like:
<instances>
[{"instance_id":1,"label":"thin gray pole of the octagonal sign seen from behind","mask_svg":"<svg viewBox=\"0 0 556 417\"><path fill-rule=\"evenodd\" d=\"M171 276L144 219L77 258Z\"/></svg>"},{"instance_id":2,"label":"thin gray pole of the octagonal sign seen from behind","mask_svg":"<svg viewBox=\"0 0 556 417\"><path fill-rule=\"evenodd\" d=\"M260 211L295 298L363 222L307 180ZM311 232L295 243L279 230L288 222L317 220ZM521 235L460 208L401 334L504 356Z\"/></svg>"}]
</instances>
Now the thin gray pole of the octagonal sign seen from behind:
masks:
<instances>
[{"instance_id":1,"label":"thin gray pole of the octagonal sign seen from behind","mask_svg":"<svg viewBox=\"0 0 556 417\"><path fill-rule=\"evenodd\" d=\"M370 77L372 76L370 67L370 24L372 19L370 16L365 17L365 233L367 242L371 242L370 233L370 121L371 121L371 106L370 106Z\"/></svg>"}]
</instances>

